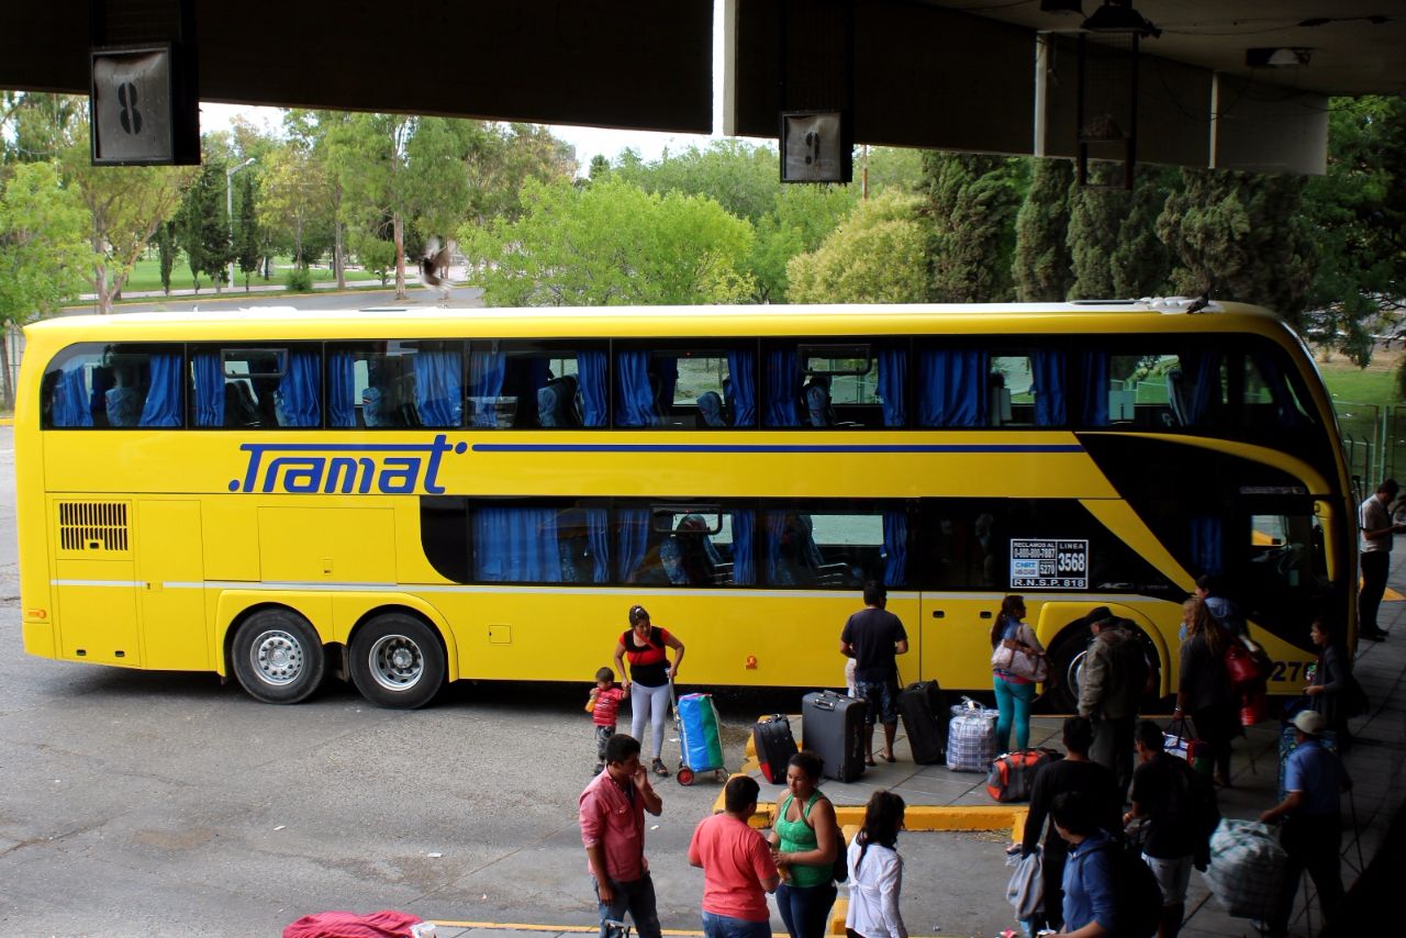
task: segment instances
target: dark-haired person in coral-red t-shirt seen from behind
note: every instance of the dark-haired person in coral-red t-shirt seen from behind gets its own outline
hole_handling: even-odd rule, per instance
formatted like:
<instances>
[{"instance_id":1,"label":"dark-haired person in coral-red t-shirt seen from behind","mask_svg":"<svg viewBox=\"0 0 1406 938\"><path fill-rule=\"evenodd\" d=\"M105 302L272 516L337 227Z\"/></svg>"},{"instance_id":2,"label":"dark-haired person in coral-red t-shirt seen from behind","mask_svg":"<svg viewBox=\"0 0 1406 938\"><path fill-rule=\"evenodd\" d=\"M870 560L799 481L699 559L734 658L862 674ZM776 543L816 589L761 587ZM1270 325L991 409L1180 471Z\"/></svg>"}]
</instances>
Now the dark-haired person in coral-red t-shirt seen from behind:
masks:
<instances>
[{"instance_id":1,"label":"dark-haired person in coral-red t-shirt seen from behind","mask_svg":"<svg viewBox=\"0 0 1406 938\"><path fill-rule=\"evenodd\" d=\"M766 893L780 882L772 848L747 818L761 788L735 775L723 789L724 811L699 821L689 863L703 868L703 934L707 938L770 938Z\"/></svg>"}]
</instances>

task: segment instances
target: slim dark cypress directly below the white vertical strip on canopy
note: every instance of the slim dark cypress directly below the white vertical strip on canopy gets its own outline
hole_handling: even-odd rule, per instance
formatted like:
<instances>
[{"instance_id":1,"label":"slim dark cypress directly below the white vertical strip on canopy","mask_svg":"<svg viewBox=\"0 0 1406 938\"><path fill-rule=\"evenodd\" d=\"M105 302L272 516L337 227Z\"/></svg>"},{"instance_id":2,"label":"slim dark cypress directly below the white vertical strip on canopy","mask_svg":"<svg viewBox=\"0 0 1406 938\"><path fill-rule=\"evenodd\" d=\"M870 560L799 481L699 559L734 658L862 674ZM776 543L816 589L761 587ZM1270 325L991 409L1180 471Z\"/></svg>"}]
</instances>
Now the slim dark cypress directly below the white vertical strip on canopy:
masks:
<instances>
[{"instance_id":1,"label":"slim dark cypress directly below the white vertical strip on canopy","mask_svg":"<svg viewBox=\"0 0 1406 938\"><path fill-rule=\"evenodd\" d=\"M1069 250L1070 186L1074 166L1066 159L1038 159L1031 191L1015 215L1015 262L1011 278L1021 302L1059 302L1074 284Z\"/></svg>"}]
</instances>

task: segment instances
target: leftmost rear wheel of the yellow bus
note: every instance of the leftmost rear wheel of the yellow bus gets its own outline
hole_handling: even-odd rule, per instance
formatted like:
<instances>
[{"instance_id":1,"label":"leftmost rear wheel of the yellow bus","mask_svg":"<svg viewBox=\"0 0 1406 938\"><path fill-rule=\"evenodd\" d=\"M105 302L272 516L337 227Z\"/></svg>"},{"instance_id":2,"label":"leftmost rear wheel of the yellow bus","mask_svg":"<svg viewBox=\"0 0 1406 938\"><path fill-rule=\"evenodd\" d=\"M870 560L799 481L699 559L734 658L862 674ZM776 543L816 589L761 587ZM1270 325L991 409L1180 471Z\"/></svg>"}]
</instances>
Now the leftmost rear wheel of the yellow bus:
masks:
<instances>
[{"instance_id":1,"label":"leftmost rear wheel of the yellow bus","mask_svg":"<svg viewBox=\"0 0 1406 938\"><path fill-rule=\"evenodd\" d=\"M239 685L263 703L301 703L322 685L326 653L318 631L288 609L263 609L235 631L231 658Z\"/></svg>"}]
</instances>

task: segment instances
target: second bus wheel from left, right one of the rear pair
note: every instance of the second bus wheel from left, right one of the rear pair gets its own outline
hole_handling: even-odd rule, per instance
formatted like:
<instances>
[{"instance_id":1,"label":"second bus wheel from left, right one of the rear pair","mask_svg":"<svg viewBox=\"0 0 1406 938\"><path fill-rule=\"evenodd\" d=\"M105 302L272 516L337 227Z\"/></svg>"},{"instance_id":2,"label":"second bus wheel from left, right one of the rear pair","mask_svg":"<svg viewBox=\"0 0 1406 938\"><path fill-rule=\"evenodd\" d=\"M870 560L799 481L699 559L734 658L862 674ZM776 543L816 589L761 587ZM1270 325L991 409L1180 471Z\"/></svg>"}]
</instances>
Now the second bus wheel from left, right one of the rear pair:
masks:
<instances>
[{"instance_id":1,"label":"second bus wheel from left, right one of the rear pair","mask_svg":"<svg viewBox=\"0 0 1406 938\"><path fill-rule=\"evenodd\" d=\"M378 707L413 710L444 683L444 648L415 616L388 612L352 637L352 682Z\"/></svg>"}]
</instances>

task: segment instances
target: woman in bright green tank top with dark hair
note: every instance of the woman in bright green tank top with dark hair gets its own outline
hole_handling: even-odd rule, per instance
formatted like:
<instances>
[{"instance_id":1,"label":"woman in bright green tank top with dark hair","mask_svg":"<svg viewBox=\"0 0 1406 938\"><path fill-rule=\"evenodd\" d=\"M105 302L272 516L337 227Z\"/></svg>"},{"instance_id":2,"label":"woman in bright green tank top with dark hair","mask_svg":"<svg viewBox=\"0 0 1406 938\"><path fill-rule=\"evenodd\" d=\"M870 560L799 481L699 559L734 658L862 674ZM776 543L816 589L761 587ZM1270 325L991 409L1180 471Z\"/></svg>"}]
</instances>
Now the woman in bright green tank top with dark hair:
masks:
<instances>
[{"instance_id":1,"label":"woman in bright green tank top with dark hair","mask_svg":"<svg viewBox=\"0 0 1406 938\"><path fill-rule=\"evenodd\" d=\"M839 845L835 806L820 793L820 758L797 752L786 766L789 795L772 825L772 852L782 870L776 904L790 938L823 938L835 904L832 880Z\"/></svg>"}]
</instances>

